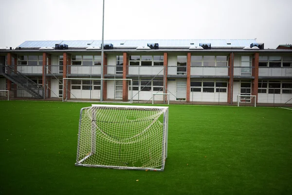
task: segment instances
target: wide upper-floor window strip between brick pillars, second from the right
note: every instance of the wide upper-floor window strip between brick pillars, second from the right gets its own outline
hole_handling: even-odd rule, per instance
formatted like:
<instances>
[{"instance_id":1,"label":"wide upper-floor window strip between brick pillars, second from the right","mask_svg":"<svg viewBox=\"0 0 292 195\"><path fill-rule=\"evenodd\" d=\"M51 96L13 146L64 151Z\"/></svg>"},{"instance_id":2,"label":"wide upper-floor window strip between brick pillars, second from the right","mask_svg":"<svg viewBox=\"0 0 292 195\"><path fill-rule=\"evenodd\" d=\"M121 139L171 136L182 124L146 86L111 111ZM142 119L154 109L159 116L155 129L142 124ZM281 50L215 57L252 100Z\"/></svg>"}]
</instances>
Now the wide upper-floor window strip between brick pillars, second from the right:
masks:
<instances>
[{"instance_id":1,"label":"wide upper-floor window strip between brick pillars, second from the right","mask_svg":"<svg viewBox=\"0 0 292 195\"><path fill-rule=\"evenodd\" d=\"M192 56L191 66L227 66L227 56Z\"/></svg>"}]
</instances>

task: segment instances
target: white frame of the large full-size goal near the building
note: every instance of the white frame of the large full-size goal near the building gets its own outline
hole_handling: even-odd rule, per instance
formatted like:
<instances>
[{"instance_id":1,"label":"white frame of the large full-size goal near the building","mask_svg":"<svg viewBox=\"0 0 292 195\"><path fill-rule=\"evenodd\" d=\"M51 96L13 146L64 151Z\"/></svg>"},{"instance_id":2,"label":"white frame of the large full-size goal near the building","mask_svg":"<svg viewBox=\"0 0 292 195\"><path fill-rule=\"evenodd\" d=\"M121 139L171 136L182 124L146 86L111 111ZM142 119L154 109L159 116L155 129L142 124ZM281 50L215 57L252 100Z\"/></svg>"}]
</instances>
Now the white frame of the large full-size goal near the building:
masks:
<instances>
[{"instance_id":1,"label":"white frame of the large full-size goal near the building","mask_svg":"<svg viewBox=\"0 0 292 195\"><path fill-rule=\"evenodd\" d=\"M130 82L130 86L133 84L133 80L131 78L63 78L63 91L69 91L71 95L72 92L68 89L68 86L65 86L65 80L128 80ZM127 89L128 90L128 89ZM121 102L121 101L87 101L87 100L68 100L67 97L64 98L62 96L62 101L70 101L70 102L104 102L104 103L132 103L133 102L133 90L129 90L130 92L130 99L128 102ZM75 97L73 95L73 97ZM76 98L76 97L75 97ZM76 98L77 99L77 98Z\"/></svg>"}]
</instances>

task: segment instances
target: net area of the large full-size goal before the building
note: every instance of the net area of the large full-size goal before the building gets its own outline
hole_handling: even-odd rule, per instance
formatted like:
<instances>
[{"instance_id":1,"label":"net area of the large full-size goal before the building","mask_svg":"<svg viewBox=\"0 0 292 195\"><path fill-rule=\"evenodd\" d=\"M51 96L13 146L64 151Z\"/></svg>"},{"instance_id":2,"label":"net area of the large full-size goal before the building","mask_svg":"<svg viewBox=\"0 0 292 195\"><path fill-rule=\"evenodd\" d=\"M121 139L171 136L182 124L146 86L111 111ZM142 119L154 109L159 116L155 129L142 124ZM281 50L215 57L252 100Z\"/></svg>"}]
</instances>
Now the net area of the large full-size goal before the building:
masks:
<instances>
[{"instance_id":1,"label":"net area of the large full-size goal before the building","mask_svg":"<svg viewBox=\"0 0 292 195\"><path fill-rule=\"evenodd\" d=\"M123 85L126 85L126 92ZM132 103L133 91L128 89L131 85L130 78L63 78L59 93L63 93L62 101L101 102L103 96L102 102Z\"/></svg>"}]
</instances>

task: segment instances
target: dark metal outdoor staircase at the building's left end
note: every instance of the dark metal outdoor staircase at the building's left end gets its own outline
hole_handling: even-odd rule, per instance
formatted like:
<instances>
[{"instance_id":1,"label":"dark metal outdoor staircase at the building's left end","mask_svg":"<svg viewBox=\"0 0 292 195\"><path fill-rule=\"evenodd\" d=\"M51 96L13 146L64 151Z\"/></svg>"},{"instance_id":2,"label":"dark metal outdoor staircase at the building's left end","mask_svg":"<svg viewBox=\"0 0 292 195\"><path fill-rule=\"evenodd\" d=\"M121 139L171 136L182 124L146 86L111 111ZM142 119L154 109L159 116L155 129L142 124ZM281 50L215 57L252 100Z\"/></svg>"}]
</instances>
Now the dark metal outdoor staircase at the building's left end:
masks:
<instances>
[{"instance_id":1,"label":"dark metal outdoor staircase at the building's left end","mask_svg":"<svg viewBox=\"0 0 292 195\"><path fill-rule=\"evenodd\" d=\"M18 85L18 87L30 93L35 98L43 98L43 88L39 86L36 82L27 78L17 70L14 70L14 66L2 65L0 74L5 78L8 78L12 82Z\"/></svg>"}]
</instances>

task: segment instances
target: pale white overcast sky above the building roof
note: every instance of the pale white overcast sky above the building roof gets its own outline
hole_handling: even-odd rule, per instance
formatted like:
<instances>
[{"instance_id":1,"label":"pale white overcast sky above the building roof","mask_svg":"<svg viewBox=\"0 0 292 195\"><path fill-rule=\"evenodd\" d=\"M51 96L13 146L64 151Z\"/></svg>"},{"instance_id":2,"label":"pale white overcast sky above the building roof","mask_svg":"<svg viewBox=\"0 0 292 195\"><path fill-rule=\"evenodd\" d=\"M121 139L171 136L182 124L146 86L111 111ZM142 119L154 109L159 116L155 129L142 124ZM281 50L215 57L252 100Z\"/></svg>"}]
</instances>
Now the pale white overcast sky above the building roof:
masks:
<instances>
[{"instance_id":1,"label":"pale white overcast sky above the building roof","mask_svg":"<svg viewBox=\"0 0 292 195\"><path fill-rule=\"evenodd\" d=\"M0 0L0 47L102 39L102 0ZM292 0L105 0L104 39L292 44Z\"/></svg>"}]
</instances>

